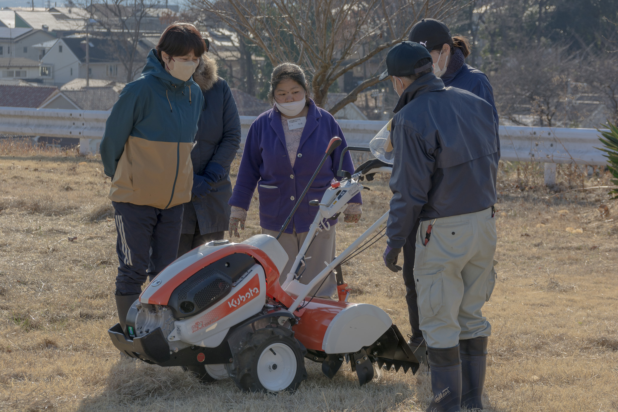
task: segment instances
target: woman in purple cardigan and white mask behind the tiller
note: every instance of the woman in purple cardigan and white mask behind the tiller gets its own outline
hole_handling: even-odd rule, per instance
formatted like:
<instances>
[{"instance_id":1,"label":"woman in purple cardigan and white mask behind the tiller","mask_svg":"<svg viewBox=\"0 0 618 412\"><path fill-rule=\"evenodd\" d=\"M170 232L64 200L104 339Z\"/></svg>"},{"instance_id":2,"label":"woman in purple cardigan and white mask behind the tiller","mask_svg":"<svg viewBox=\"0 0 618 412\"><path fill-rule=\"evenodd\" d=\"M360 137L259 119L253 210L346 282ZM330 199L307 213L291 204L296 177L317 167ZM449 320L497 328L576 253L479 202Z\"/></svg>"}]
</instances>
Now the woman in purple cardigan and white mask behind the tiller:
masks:
<instances>
[{"instance_id":1,"label":"woman in purple cardigan and white mask behind the tiller","mask_svg":"<svg viewBox=\"0 0 618 412\"><path fill-rule=\"evenodd\" d=\"M245 229L247 210L257 186L262 233L276 236L292 212L297 196L302 195L320 164L328 142L332 137L341 137L341 145L326 159L292 221L279 238L289 258L279 278L281 283L290 272L311 222L318 213L318 206L310 206L309 201L321 200L324 191L336 179L341 151L347 146L334 117L313 103L308 90L305 73L298 65L283 63L274 68L269 91L269 99L274 107L258 116L249 128L234 193L228 202L232 206L230 237L239 237L238 227L240 225L240 230ZM344 156L343 170L354 171L349 153ZM345 209L344 222L358 222L361 203L359 193ZM334 259L335 223L328 221L328 224L324 224L323 230L318 232L311 243L305 266L299 272L302 273L300 282L303 284L308 284L326 267L324 261L331 262ZM319 290L316 287L311 294L329 298L336 290L337 283L331 272Z\"/></svg>"}]
</instances>

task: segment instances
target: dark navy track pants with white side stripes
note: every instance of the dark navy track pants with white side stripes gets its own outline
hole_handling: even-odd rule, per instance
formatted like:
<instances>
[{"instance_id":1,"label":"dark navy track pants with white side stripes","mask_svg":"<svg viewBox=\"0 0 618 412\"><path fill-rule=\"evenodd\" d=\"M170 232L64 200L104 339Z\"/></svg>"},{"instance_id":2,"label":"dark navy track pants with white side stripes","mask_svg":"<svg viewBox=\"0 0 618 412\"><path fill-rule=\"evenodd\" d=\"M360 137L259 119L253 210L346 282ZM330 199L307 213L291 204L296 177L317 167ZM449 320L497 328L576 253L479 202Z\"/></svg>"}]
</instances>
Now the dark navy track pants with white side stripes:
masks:
<instances>
[{"instance_id":1,"label":"dark navy track pants with white side stripes","mask_svg":"<svg viewBox=\"0 0 618 412\"><path fill-rule=\"evenodd\" d=\"M116 295L135 295L142 292L148 275L152 279L176 259L183 205L157 209L133 203L112 204L118 233Z\"/></svg>"}]
</instances>

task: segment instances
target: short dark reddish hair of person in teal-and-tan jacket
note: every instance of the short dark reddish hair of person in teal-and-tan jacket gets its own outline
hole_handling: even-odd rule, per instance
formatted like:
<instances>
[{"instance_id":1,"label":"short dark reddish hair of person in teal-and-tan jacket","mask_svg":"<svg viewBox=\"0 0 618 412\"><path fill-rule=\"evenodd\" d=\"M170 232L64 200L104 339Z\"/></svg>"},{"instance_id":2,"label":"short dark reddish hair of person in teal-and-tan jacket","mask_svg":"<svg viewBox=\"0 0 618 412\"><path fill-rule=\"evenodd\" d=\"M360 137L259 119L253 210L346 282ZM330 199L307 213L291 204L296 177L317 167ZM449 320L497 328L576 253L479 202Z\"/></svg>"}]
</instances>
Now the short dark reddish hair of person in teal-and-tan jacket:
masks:
<instances>
[{"instance_id":1,"label":"short dark reddish hair of person in teal-and-tan jacket","mask_svg":"<svg viewBox=\"0 0 618 412\"><path fill-rule=\"evenodd\" d=\"M191 23L174 22L164 30L156 50L161 58L161 52L171 57L186 56L193 51L200 57L206 51L206 43L201 33Z\"/></svg>"}]
</instances>

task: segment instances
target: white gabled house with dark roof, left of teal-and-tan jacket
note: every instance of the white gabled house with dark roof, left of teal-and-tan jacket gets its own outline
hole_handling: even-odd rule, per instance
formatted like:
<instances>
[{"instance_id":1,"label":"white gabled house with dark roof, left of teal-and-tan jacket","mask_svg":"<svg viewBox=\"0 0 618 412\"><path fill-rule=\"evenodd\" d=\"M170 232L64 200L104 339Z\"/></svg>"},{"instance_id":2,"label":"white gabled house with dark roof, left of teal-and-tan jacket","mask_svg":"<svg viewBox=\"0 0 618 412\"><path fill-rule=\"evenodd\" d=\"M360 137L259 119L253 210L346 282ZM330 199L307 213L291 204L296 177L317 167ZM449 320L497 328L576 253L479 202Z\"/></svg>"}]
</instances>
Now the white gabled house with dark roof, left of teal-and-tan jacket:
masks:
<instances>
[{"instance_id":1,"label":"white gabled house with dark roof, left of teal-and-tan jacket","mask_svg":"<svg viewBox=\"0 0 618 412\"><path fill-rule=\"evenodd\" d=\"M124 80L124 66L114 53L111 40L90 38L88 40L90 55L89 77L100 80ZM47 49L49 44L45 44ZM43 46L43 44L41 44ZM56 41L41 57L41 67L51 67L48 72L41 72L44 83L64 85L75 78L85 78L86 40L82 37L66 37ZM43 69L41 69L43 70Z\"/></svg>"}]
</instances>

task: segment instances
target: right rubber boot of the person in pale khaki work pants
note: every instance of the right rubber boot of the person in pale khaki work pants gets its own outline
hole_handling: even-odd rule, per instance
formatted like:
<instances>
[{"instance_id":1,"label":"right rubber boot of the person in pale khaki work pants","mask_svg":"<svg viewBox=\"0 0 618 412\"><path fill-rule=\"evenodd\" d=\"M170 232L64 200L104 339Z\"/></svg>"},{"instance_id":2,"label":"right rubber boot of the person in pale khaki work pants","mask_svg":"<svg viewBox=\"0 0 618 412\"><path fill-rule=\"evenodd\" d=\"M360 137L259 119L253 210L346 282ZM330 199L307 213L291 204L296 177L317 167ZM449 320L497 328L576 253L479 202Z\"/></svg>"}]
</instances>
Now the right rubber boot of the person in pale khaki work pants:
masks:
<instances>
[{"instance_id":1,"label":"right rubber boot of the person in pale khaki work pants","mask_svg":"<svg viewBox=\"0 0 618 412\"><path fill-rule=\"evenodd\" d=\"M462 402L468 409L483 409L483 385L487 369L487 337L459 341L462 359Z\"/></svg>"}]
</instances>

